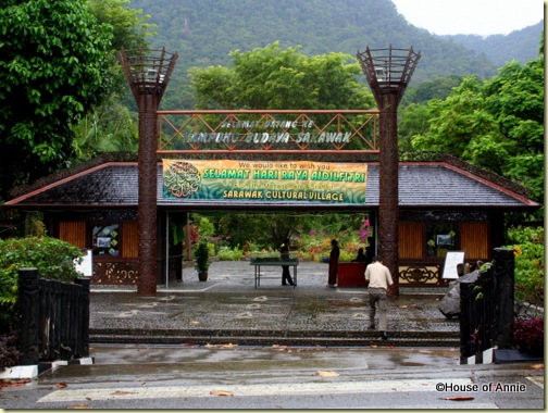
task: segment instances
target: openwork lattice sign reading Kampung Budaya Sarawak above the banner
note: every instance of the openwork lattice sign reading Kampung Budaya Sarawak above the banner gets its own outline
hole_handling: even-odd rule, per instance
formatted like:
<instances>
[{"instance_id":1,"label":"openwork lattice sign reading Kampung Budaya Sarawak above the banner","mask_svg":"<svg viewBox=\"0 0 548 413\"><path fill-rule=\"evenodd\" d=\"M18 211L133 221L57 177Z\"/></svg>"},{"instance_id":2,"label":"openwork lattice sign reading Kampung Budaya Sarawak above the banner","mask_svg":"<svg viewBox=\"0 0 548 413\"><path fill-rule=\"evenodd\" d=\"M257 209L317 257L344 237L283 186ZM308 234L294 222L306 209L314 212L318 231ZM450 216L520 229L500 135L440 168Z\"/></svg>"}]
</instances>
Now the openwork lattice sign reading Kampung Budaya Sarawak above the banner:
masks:
<instances>
[{"instance_id":1,"label":"openwork lattice sign reading Kampung Budaya Sarawak above the banner","mask_svg":"<svg viewBox=\"0 0 548 413\"><path fill-rule=\"evenodd\" d=\"M258 149L378 152L378 111L205 110L158 114L159 152Z\"/></svg>"}]
</instances>

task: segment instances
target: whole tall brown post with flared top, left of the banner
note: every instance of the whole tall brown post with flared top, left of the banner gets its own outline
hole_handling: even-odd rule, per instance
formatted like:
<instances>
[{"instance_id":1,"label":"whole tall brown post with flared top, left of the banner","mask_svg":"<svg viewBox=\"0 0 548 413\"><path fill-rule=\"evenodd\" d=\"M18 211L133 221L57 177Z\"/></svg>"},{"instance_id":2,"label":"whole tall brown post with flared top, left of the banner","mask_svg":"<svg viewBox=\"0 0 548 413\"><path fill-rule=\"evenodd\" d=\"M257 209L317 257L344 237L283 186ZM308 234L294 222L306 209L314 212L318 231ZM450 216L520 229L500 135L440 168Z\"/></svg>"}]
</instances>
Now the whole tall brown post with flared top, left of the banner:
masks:
<instances>
[{"instance_id":1,"label":"whole tall brown post with flared top, left of the banner","mask_svg":"<svg viewBox=\"0 0 548 413\"><path fill-rule=\"evenodd\" d=\"M122 50L120 60L139 109L138 293L157 292L158 108L178 58L165 49Z\"/></svg>"}]
</instances>

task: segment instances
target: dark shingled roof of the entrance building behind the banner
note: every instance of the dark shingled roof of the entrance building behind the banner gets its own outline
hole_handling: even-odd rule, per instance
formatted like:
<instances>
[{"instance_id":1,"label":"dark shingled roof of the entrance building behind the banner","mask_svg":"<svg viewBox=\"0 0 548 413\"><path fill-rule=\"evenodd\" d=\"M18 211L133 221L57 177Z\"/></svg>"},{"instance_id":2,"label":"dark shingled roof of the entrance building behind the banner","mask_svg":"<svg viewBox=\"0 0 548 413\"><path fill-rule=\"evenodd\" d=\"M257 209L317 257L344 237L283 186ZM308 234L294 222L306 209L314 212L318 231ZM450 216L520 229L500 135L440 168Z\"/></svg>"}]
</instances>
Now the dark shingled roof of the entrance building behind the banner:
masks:
<instances>
[{"instance_id":1,"label":"dark shingled roof of the entrance building behind the banner","mask_svg":"<svg viewBox=\"0 0 548 413\"><path fill-rule=\"evenodd\" d=\"M365 206L378 206L379 167L368 168ZM188 201L162 198L162 167L158 168L158 205L211 205L212 201ZM219 201L215 201L219 202ZM227 201L228 202L228 201ZM237 206L237 202L229 201ZM136 163L108 163L80 172L5 203L11 206L137 206L138 166ZM240 202L249 205L249 201ZM520 209L537 204L498 184L443 163L400 163L399 204L438 208Z\"/></svg>"}]
</instances>

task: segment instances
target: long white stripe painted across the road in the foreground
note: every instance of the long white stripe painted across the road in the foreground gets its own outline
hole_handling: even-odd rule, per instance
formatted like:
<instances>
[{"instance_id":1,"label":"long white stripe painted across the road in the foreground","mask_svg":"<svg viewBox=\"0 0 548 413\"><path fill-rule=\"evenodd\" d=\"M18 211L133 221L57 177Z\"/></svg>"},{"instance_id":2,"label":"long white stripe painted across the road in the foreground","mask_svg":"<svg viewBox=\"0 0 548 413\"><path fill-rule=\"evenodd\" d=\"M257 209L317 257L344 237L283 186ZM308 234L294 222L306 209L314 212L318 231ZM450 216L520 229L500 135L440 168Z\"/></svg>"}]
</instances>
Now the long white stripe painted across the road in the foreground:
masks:
<instances>
[{"instance_id":1,"label":"long white stripe painted across the road in the foreground","mask_svg":"<svg viewBox=\"0 0 548 413\"><path fill-rule=\"evenodd\" d=\"M372 381L317 381L275 385L222 385L222 386L161 386L161 387L120 387L96 389L68 389L53 391L38 402L66 402L109 399L158 399L158 398L200 398L211 397L211 391L228 391L236 397L298 396L329 393L377 393L377 392L436 392L439 379L393 379ZM470 378L451 379L451 384L471 385ZM447 396L438 392L439 397ZM461 404L459 404L461 406ZM448 406L446 406L448 408Z\"/></svg>"}]
</instances>

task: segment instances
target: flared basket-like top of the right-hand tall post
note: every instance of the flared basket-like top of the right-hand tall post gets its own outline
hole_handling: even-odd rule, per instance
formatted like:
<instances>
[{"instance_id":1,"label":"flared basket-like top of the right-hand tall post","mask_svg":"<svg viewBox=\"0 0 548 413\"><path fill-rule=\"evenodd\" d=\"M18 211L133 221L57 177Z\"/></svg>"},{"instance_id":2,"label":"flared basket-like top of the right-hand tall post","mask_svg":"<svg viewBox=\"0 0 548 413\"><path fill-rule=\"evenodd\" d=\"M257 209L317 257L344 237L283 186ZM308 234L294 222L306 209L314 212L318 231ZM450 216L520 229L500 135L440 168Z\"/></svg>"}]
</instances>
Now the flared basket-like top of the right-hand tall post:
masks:
<instances>
[{"instance_id":1,"label":"flared basket-like top of the right-hand tall post","mask_svg":"<svg viewBox=\"0 0 548 413\"><path fill-rule=\"evenodd\" d=\"M358 52L357 58L377 102L381 95L387 93L398 95L399 102L421 53L415 53L413 48L370 49L368 46L364 52Z\"/></svg>"}]
</instances>

